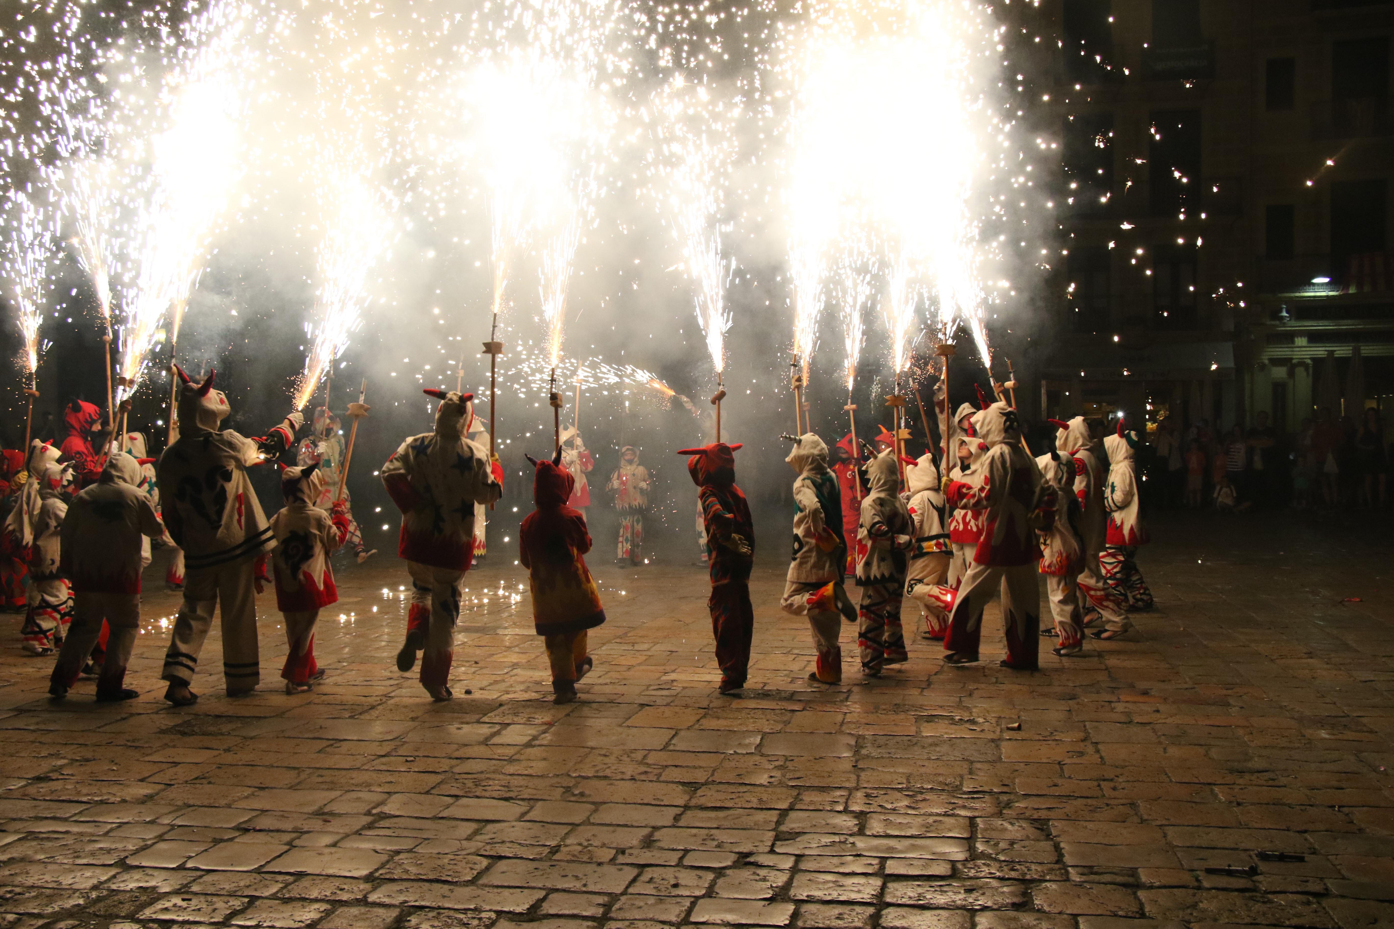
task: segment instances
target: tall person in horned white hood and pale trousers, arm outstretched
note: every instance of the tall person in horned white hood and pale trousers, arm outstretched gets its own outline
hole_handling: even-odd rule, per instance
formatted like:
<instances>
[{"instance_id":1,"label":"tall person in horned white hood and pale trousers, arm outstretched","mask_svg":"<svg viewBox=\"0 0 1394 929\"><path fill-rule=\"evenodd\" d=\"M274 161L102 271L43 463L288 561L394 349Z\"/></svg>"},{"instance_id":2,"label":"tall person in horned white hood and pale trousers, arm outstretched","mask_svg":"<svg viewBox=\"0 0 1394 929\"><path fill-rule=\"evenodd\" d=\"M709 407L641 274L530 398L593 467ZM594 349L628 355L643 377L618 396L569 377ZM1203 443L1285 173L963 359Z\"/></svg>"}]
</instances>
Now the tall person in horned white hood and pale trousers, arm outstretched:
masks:
<instances>
[{"instance_id":1,"label":"tall person in horned white hood and pale trousers, arm outstretched","mask_svg":"<svg viewBox=\"0 0 1394 929\"><path fill-rule=\"evenodd\" d=\"M248 694L261 681L256 642L255 579L275 546L266 515L247 469L291 447L304 416L293 412L262 439L219 430L230 408L213 390L216 372L202 384L174 368L183 382L178 396L178 439L158 468L164 528L184 550L184 602L174 617L162 677L164 699L187 706L198 699L188 685L219 610L223 631L223 680L229 696Z\"/></svg>"}]
</instances>

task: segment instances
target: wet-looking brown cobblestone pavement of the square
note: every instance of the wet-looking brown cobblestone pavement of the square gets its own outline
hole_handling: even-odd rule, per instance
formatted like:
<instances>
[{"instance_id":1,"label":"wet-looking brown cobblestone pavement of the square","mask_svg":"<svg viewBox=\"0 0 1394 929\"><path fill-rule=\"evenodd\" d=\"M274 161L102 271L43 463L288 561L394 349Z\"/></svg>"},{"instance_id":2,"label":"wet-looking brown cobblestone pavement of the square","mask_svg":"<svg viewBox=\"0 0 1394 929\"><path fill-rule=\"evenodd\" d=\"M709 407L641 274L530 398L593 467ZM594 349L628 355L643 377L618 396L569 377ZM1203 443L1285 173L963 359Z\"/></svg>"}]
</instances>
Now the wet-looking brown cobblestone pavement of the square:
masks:
<instances>
[{"instance_id":1,"label":"wet-looking brown cobblestone pavement of the square","mask_svg":"<svg viewBox=\"0 0 1394 929\"><path fill-rule=\"evenodd\" d=\"M769 557L744 699L715 694L687 565L598 568L609 623L570 706L499 560L470 575L442 705L392 664L390 556L340 572L305 696L277 687L270 595L262 689L201 674L187 709L156 680L173 596L146 596L118 706L91 681L50 705L4 617L0 929L1394 926L1390 552L1338 528L1174 518L1128 639L1009 673L990 614L981 666L912 641L820 689Z\"/></svg>"}]
</instances>

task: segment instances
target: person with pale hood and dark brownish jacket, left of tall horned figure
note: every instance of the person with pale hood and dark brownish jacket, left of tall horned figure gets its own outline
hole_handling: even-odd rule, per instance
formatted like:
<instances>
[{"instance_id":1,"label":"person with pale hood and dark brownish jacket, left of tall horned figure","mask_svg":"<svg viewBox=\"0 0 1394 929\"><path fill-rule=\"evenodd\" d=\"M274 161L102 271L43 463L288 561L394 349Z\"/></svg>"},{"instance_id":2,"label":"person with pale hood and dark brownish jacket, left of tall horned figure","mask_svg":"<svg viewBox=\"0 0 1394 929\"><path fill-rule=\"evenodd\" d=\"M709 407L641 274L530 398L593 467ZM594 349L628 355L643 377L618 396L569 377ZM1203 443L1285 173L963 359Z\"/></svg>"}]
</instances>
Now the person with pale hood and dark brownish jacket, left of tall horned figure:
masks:
<instances>
[{"instance_id":1,"label":"person with pale hood and dark brownish jacket, left of tall horned figure","mask_svg":"<svg viewBox=\"0 0 1394 929\"><path fill-rule=\"evenodd\" d=\"M141 462L124 451L107 455L102 476L72 499L63 521L63 571L72 579L72 628L49 677L49 694L67 696L98 638L106 631L96 699L130 701L125 667L141 628L142 552L164 535L151 497L139 487Z\"/></svg>"}]
</instances>

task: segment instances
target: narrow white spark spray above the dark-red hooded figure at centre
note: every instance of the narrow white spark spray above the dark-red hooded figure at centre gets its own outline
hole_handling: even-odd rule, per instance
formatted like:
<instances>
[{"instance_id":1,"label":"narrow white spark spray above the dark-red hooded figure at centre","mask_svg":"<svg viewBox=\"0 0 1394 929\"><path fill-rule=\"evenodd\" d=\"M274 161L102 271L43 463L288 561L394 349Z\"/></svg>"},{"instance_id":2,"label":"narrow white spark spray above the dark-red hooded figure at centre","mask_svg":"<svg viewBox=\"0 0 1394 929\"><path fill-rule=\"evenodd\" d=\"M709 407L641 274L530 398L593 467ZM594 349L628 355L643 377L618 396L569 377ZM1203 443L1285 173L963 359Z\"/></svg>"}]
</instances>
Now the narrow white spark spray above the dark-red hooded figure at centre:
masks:
<instances>
[{"instance_id":1,"label":"narrow white spark spray above the dark-red hooded figure at centre","mask_svg":"<svg viewBox=\"0 0 1394 929\"><path fill-rule=\"evenodd\" d=\"M682 75L658 93L657 106L661 120L654 156L664 212L682 248L683 266L697 284L697 322L721 375L732 322L726 286L735 272L735 260L723 258L721 249L722 189L735 153L739 107L712 100L705 86Z\"/></svg>"}]
</instances>

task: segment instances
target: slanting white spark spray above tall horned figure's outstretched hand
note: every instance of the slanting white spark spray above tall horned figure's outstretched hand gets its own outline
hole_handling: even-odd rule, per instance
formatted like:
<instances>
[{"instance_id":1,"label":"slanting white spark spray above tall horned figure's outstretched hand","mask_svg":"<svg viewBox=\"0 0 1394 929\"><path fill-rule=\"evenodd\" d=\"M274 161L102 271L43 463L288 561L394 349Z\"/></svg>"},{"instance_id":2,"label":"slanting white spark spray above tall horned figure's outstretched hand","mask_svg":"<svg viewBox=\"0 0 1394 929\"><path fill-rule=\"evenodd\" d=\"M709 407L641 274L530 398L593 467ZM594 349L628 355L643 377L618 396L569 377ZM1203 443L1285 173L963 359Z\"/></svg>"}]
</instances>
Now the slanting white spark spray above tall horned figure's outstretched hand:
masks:
<instances>
[{"instance_id":1,"label":"slanting white spark spray above tall horned figure's outstretched hand","mask_svg":"<svg viewBox=\"0 0 1394 929\"><path fill-rule=\"evenodd\" d=\"M314 322L305 326L309 354L296 386L294 409L309 404L329 365L343 354L368 302L368 272L388 245L390 220L382 194L368 178L361 152L333 152L318 160L325 237L319 242Z\"/></svg>"}]
</instances>

